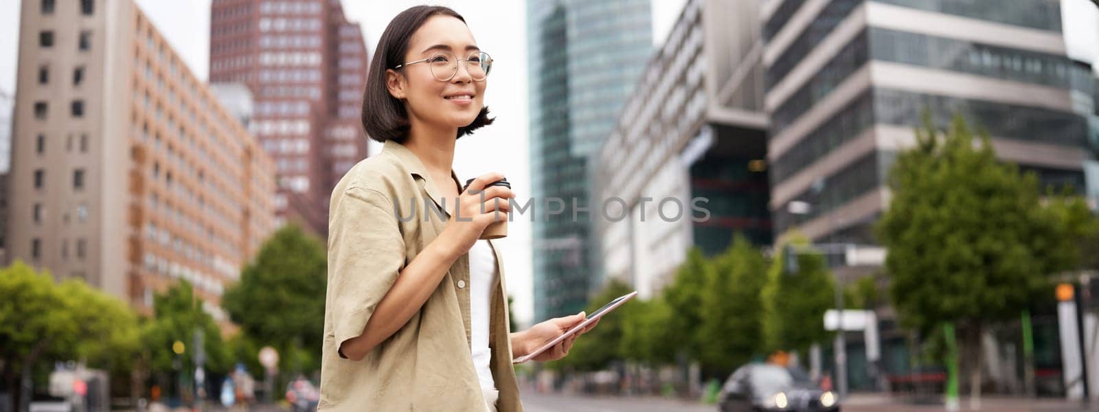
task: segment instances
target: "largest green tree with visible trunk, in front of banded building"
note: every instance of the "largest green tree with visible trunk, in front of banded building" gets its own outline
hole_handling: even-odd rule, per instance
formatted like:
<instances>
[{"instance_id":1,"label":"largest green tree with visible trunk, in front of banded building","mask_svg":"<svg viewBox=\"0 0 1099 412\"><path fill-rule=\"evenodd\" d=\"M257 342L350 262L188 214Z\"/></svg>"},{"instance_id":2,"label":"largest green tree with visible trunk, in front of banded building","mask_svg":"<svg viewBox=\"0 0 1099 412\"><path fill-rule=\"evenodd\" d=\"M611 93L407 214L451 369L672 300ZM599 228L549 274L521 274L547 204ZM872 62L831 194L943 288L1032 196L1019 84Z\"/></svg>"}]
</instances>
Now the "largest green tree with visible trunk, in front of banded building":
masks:
<instances>
[{"instance_id":1,"label":"largest green tree with visible trunk, in front of banded building","mask_svg":"<svg viewBox=\"0 0 1099 412\"><path fill-rule=\"evenodd\" d=\"M945 134L924 123L917 145L897 156L878 222L889 297L902 324L922 335L959 326L977 399L985 325L1019 316L1036 290L1048 293L1046 275L1070 264L1072 247L1041 207L1037 179L999 162L987 134L975 141L961 116Z\"/></svg>"}]
</instances>

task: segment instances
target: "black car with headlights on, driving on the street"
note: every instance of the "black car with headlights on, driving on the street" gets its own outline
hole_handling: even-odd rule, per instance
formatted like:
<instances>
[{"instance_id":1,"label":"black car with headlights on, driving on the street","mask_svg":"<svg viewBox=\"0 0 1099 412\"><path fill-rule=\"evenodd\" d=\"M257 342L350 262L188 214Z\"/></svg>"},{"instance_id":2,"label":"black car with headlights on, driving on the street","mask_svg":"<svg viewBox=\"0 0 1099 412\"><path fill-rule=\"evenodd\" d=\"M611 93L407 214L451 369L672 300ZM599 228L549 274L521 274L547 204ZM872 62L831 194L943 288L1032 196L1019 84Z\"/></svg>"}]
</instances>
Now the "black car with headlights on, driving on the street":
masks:
<instances>
[{"instance_id":1,"label":"black car with headlights on, driving on the street","mask_svg":"<svg viewBox=\"0 0 1099 412\"><path fill-rule=\"evenodd\" d=\"M742 366L719 393L722 412L839 412L835 392L821 390L799 369L770 364Z\"/></svg>"}]
</instances>

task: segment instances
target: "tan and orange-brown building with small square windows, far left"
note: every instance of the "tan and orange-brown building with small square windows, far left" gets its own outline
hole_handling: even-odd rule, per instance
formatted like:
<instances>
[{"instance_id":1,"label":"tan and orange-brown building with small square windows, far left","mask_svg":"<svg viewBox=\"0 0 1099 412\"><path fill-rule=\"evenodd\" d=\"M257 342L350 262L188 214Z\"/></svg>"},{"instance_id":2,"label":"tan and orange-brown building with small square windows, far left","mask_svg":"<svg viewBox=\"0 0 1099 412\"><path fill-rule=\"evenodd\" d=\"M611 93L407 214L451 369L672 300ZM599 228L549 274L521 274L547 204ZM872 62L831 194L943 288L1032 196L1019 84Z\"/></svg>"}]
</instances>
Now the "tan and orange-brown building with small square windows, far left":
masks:
<instances>
[{"instance_id":1,"label":"tan and orange-brown building with small square windows, far left","mask_svg":"<svg viewBox=\"0 0 1099 412\"><path fill-rule=\"evenodd\" d=\"M275 169L130 0L23 0L8 260L148 311L223 287L274 230Z\"/></svg>"}]
</instances>

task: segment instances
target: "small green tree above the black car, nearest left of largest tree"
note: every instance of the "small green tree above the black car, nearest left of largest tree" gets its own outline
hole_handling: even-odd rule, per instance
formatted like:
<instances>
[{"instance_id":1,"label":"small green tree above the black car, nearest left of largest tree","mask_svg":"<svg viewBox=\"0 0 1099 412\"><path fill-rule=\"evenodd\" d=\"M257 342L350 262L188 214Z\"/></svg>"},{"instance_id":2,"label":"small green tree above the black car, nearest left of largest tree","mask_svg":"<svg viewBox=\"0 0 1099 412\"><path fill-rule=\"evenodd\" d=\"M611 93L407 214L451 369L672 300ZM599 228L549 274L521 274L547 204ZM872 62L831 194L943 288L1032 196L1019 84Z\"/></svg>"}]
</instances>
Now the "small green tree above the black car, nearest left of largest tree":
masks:
<instances>
[{"instance_id":1,"label":"small green tree above the black car, nearest left of largest tree","mask_svg":"<svg viewBox=\"0 0 1099 412\"><path fill-rule=\"evenodd\" d=\"M824 330L824 312L835 307L835 282L824 256L814 253L804 238L789 244L797 250L798 268L787 270L784 243L776 245L782 254L770 264L764 288L766 346L773 350L804 353L814 343L826 341L832 333Z\"/></svg>"}]
</instances>

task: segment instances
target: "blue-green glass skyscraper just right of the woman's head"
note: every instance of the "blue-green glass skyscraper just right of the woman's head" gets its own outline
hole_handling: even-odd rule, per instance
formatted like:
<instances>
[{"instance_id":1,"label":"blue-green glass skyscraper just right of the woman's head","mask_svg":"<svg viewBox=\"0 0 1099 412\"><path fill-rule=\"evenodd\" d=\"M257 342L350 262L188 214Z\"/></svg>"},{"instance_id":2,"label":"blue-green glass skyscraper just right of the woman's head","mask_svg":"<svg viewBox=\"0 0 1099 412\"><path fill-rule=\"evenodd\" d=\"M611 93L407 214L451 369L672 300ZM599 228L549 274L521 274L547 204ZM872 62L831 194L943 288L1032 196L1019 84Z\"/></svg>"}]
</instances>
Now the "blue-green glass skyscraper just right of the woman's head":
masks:
<instances>
[{"instance_id":1,"label":"blue-green glass skyscraper just right of the woman's head","mask_svg":"<svg viewBox=\"0 0 1099 412\"><path fill-rule=\"evenodd\" d=\"M535 208L534 318L576 313L598 287L589 213L588 157L652 53L650 0L530 0L531 193ZM574 201L576 203L574 203ZM551 210L552 209L552 210Z\"/></svg>"}]
</instances>

